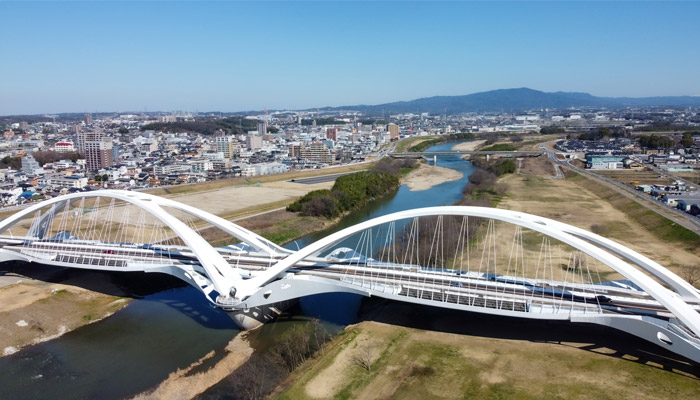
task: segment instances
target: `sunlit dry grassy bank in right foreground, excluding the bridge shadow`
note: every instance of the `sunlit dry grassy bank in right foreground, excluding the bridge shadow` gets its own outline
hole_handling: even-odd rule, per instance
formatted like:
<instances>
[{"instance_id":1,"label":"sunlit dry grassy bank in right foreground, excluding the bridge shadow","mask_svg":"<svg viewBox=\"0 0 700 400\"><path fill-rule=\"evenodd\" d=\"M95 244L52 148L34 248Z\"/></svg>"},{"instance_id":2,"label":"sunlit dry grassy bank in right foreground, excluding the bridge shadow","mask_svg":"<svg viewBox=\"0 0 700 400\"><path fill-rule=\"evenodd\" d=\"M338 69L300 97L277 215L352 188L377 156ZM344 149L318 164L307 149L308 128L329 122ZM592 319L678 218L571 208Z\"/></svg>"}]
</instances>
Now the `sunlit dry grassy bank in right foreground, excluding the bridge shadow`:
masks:
<instances>
[{"instance_id":1,"label":"sunlit dry grassy bank in right foreground, excluding the bridge shadow","mask_svg":"<svg viewBox=\"0 0 700 400\"><path fill-rule=\"evenodd\" d=\"M367 343L375 346L369 370L355 361ZM693 399L700 390L700 381L683 370L634 361L596 344L496 339L363 322L288 378L278 398Z\"/></svg>"}]
</instances>

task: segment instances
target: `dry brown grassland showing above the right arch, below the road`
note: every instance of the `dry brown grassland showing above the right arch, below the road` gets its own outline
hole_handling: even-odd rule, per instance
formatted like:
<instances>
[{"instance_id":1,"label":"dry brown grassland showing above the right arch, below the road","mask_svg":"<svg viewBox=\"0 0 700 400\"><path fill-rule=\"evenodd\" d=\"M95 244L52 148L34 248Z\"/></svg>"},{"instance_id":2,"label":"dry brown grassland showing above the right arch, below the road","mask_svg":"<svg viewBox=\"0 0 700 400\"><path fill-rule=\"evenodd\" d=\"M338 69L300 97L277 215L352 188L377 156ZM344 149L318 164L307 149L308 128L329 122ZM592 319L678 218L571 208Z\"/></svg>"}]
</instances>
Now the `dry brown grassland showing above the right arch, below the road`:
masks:
<instances>
[{"instance_id":1,"label":"dry brown grassland showing above the right arch, below the road","mask_svg":"<svg viewBox=\"0 0 700 400\"><path fill-rule=\"evenodd\" d=\"M675 273L684 265L700 264L698 238L683 240L676 233L681 226L584 176L568 173L564 179L551 179L553 173L545 157L524 158L520 173L499 180L508 190L498 207L598 232ZM607 278L620 276L611 273Z\"/></svg>"}]
</instances>

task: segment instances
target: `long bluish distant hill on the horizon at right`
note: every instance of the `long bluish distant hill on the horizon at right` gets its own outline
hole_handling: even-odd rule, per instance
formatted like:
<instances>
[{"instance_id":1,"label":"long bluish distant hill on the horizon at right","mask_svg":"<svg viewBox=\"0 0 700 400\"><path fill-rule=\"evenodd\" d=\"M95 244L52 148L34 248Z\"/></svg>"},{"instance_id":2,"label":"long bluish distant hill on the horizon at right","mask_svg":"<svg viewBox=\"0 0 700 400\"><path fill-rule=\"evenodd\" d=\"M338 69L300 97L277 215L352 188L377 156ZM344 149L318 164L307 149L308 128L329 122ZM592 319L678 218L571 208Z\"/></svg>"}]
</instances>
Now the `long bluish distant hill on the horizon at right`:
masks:
<instances>
[{"instance_id":1,"label":"long bluish distant hill on the horizon at right","mask_svg":"<svg viewBox=\"0 0 700 400\"><path fill-rule=\"evenodd\" d=\"M418 113L457 114L479 111L522 111L540 108L569 107L627 107L627 106L669 106L698 107L700 97L596 97L588 93L542 92L539 90L499 89L463 96L434 96L411 101L397 101L377 105L357 105L326 107L324 110L353 110L370 114L379 113Z\"/></svg>"}]
</instances>

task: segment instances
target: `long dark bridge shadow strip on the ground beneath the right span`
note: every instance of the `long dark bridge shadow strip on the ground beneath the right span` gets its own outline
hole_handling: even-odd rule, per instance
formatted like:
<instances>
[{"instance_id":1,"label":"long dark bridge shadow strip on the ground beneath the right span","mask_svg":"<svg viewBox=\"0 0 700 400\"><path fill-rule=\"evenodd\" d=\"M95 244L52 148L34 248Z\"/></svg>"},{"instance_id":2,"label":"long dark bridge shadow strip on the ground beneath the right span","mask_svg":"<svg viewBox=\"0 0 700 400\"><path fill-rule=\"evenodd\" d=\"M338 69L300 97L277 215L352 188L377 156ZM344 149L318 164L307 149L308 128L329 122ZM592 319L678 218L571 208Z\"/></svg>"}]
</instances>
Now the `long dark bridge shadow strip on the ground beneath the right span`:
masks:
<instances>
[{"instance_id":1,"label":"long dark bridge shadow strip on the ground beneath the right span","mask_svg":"<svg viewBox=\"0 0 700 400\"><path fill-rule=\"evenodd\" d=\"M535 321L366 299L360 320L484 338L575 348L700 380L700 365L636 336L595 324ZM468 340L468 339L465 339Z\"/></svg>"}]
</instances>

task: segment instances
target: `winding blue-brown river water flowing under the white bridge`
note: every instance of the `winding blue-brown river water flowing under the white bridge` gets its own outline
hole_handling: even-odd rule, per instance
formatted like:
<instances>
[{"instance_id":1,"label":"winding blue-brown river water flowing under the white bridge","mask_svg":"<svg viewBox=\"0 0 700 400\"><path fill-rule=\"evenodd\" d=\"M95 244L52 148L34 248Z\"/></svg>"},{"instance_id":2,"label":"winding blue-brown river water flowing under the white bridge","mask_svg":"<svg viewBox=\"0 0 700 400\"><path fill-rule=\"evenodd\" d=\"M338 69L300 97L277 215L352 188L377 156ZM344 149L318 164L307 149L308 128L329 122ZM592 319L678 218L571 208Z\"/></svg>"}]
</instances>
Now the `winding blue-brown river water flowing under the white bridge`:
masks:
<instances>
[{"instance_id":1,"label":"winding blue-brown river water flowing under the white bridge","mask_svg":"<svg viewBox=\"0 0 700 400\"><path fill-rule=\"evenodd\" d=\"M454 143L431 147L447 151ZM463 177L428 190L411 192L401 186L394 196L375 201L343 218L332 229L309 235L287 247L296 249L345 227L380 215L417 207L450 205L462 196L473 171L458 156L440 156L438 165ZM294 321L320 317L327 329L352 323L361 298L347 294L302 299L298 315L267 324L258 335L272 337ZM339 307L339 305L342 305ZM269 325L269 326L268 326ZM0 398L120 399L148 390L177 369L214 350L223 355L238 333L229 316L212 307L188 286L134 299L111 317L69 332L58 339L29 346L0 358Z\"/></svg>"}]
</instances>

